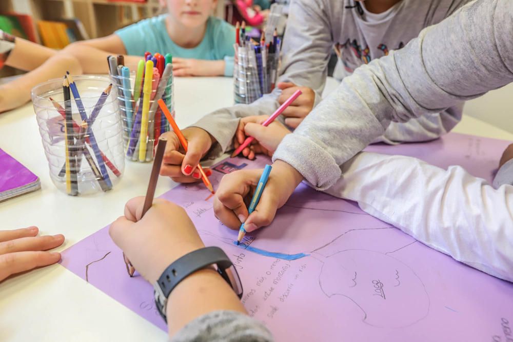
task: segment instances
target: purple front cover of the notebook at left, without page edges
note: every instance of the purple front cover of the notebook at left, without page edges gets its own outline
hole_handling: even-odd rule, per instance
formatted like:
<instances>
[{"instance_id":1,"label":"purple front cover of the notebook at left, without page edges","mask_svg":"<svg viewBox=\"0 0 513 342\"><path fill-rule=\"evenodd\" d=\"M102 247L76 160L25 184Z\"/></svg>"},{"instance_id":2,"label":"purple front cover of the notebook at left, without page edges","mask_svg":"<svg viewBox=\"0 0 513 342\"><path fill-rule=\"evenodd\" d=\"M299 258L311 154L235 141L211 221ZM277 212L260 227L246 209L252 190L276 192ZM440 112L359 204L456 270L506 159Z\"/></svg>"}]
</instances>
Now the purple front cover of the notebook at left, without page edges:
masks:
<instances>
[{"instance_id":1,"label":"purple front cover of the notebook at left, without page edges","mask_svg":"<svg viewBox=\"0 0 513 342\"><path fill-rule=\"evenodd\" d=\"M0 149L0 194L37 181L38 178L35 174Z\"/></svg>"}]
</instances>

